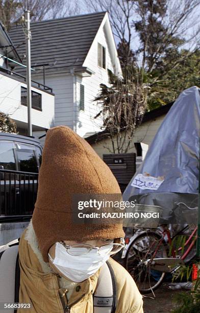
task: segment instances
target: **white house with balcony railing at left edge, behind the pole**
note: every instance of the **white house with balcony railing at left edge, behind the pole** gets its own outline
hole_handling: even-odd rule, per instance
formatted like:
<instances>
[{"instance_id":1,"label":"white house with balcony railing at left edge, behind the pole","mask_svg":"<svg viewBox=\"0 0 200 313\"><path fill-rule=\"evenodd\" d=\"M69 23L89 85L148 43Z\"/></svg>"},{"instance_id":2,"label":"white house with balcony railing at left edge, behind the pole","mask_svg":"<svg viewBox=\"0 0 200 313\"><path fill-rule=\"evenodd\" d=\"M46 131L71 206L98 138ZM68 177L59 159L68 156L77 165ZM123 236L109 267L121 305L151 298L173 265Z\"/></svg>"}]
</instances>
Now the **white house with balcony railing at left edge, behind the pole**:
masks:
<instances>
[{"instance_id":1,"label":"white house with balcony railing at left edge, behind the pole","mask_svg":"<svg viewBox=\"0 0 200 313\"><path fill-rule=\"evenodd\" d=\"M13 72L21 59L0 22L0 111L15 121L20 135L27 135L28 109L26 78ZM23 69L24 65L20 65ZM46 88L46 90L44 90ZM48 90L47 90L48 89ZM44 131L54 121L54 95L51 88L32 82L33 131Z\"/></svg>"}]
</instances>

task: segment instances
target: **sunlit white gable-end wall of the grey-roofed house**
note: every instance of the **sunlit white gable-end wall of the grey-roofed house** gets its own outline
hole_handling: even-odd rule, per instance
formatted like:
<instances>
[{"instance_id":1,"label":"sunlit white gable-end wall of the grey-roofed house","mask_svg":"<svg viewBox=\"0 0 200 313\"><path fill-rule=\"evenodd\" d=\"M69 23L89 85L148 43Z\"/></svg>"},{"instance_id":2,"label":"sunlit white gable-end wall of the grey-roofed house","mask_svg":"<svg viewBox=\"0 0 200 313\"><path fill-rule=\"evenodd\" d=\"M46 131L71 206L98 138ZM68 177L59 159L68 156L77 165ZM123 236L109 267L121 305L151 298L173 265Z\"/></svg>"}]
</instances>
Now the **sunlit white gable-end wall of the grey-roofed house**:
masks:
<instances>
[{"instance_id":1,"label":"sunlit white gable-end wall of the grey-roofed house","mask_svg":"<svg viewBox=\"0 0 200 313\"><path fill-rule=\"evenodd\" d=\"M77 133L80 136L84 136L86 132L99 131L101 130L102 122L101 120L94 120L93 117L99 112L100 108L96 102L93 102L96 95L99 93L99 85L101 83L108 84L109 77L107 70L99 68L97 65L97 46L98 42L102 46L106 47L106 63L107 68L113 71L113 66L110 58L110 51L108 48L108 42L105 35L104 28L99 29L84 66L87 66L90 70L95 72L91 77L80 77L77 76L77 101L79 103L79 85L82 83L85 86L85 110L78 110L78 121L77 121ZM77 106L76 106L77 107Z\"/></svg>"}]
</instances>

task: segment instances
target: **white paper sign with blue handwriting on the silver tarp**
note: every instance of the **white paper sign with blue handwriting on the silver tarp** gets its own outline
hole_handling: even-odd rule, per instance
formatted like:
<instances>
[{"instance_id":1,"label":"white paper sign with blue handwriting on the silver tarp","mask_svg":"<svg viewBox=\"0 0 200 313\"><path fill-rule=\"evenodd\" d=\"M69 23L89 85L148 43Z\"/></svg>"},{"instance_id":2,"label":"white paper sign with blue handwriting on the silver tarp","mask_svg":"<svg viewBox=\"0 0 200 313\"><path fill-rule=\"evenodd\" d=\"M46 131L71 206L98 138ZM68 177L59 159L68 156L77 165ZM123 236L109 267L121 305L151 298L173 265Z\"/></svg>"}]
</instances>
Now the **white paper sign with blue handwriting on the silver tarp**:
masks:
<instances>
[{"instance_id":1,"label":"white paper sign with blue handwriting on the silver tarp","mask_svg":"<svg viewBox=\"0 0 200 313\"><path fill-rule=\"evenodd\" d=\"M164 182L164 180L161 180L157 177L144 176L143 174L137 174L134 177L134 180L131 183L131 186L139 188L139 189L157 190L162 184L162 182Z\"/></svg>"}]
</instances>

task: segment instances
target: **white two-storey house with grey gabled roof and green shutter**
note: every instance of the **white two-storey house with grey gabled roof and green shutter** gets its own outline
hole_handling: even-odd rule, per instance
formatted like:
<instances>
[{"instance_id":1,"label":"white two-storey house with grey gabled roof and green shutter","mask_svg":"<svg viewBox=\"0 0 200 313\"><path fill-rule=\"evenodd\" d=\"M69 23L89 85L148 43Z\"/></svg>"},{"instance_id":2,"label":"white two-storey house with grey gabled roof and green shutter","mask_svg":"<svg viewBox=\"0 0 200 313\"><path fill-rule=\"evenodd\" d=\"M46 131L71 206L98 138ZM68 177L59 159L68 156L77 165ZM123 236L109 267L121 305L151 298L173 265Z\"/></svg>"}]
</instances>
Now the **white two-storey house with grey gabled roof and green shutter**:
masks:
<instances>
[{"instance_id":1,"label":"white two-storey house with grey gabled roof and green shutter","mask_svg":"<svg viewBox=\"0 0 200 313\"><path fill-rule=\"evenodd\" d=\"M99 131L100 123L93 119L99 111L93 101L99 84L109 83L108 69L121 75L108 13L34 22L31 32L32 78L51 86L55 94L51 126L69 126L80 136ZM23 58L21 26L13 27L9 34Z\"/></svg>"}]
</instances>

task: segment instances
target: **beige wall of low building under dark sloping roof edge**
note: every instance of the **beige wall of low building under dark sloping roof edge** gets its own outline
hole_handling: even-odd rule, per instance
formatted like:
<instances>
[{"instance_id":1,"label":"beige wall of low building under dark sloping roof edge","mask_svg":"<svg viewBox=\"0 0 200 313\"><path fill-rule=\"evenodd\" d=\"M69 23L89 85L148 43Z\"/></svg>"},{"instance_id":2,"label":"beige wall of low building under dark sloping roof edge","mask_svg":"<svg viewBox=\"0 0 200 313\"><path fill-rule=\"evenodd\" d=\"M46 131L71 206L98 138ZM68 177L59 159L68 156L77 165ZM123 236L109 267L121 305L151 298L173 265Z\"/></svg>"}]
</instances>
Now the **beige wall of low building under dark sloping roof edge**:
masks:
<instances>
[{"instance_id":1,"label":"beige wall of low building under dark sloping roof edge","mask_svg":"<svg viewBox=\"0 0 200 313\"><path fill-rule=\"evenodd\" d=\"M165 115L156 118L155 120L151 120L141 124L141 126L139 126L135 131L135 135L133 137L128 152L136 152L134 142L143 142L149 146L154 139L156 132L162 124L164 118ZM103 154L113 153L112 143L110 139L101 140L95 144L92 144L91 146L102 159Z\"/></svg>"}]
</instances>

